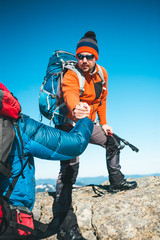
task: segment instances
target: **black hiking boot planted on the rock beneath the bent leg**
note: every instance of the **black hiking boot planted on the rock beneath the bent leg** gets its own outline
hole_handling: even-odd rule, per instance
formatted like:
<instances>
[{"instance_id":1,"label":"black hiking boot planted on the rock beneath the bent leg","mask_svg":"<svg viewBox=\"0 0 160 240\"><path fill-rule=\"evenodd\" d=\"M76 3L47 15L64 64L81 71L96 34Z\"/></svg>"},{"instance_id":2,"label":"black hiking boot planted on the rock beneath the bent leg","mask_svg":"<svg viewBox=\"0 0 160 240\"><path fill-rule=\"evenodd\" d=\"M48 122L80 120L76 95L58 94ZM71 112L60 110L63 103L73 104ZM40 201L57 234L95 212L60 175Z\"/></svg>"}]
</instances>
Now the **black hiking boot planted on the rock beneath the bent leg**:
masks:
<instances>
[{"instance_id":1,"label":"black hiking boot planted on the rock beneath the bent leg","mask_svg":"<svg viewBox=\"0 0 160 240\"><path fill-rule=\"evenodd\" d=\"M117 193L120 191L131 190L137 187L137 183L135 181L127 182L124 180L122 183L118 185L110 185L108 188L108 192Z\"/></svg>"}]
</instances>

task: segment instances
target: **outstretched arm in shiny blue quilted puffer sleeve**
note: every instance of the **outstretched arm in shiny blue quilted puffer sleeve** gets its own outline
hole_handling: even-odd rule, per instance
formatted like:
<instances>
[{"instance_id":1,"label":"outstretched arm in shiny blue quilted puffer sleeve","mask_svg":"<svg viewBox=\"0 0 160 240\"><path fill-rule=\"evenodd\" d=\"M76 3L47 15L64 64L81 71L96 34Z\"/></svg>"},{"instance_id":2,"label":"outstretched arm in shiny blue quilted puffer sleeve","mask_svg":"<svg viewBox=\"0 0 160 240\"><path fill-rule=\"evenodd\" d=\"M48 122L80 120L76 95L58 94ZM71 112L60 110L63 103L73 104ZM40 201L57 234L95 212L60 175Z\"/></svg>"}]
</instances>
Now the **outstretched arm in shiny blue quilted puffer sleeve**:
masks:
<instances>
[{"instance_id":1,"label":"outstretched arm in shiny blue quilted puffer sleeve","mask_svg":"<svg viewBox=\"0 0 160 240\"><path fill-rule=\"evenodd\" d=\"M24 122L20 125L29 139L25 146L28 153L48 160L68 160L82 154L93 131L93 123L88 118L79 120L69 133L27 116L24 116Z\"/></svg>"}]
</instances>

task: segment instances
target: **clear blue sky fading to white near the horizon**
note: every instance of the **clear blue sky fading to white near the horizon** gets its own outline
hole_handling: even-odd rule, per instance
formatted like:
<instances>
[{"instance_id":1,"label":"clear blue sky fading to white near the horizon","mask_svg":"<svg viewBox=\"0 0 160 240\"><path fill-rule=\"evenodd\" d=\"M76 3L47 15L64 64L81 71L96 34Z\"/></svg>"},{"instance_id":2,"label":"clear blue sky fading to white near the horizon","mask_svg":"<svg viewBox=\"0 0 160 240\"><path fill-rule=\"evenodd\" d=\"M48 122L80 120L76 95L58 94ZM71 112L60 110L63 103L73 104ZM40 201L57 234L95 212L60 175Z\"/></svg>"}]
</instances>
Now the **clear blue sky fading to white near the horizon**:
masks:
<instances>
[{"instance_id":1,"label":"clear blue sky fading to white near the horizon","mask_svg":"<svg viewBox=\"0 0 160 240\"><path fill-rule=\"evenodd\" d=\"M23 112L39 119L38 95L54 50L75 53L95 31L108 72L108 124L137 146L122 151L124 174L160 173L160 2L0 0L0 77ZM45 123L49 123L44 119ZM56 178L59 162L36 159L36 178ZM89 145L79 177L107 176L105 150Z\"/></svg>"}]
</instances>

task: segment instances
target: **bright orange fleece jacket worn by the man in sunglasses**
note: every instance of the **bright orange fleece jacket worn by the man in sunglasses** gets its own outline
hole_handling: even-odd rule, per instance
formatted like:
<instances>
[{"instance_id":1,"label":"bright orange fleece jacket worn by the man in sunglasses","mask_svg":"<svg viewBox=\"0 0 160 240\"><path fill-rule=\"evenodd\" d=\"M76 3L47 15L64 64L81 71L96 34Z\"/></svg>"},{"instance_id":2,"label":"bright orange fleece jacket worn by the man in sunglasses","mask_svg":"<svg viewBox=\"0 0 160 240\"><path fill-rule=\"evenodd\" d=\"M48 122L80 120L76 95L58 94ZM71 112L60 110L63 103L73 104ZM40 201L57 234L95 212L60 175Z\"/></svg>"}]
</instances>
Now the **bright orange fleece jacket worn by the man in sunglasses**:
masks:
<instances>
[{"instance_id":1,"label":"bright orange fleece jacket worn by the man in sunglasses","mask_svg":"<svg viewBox=\"0 0 160 240\"><path fill-rule=\"evenodd\" d=\"M85 85L84 85L84 92L82 96L80 96L80 86L79 86L79 79L75 72L68 70L67 73L64 75L63 81L62 81L62 93L64 102L69 110L69 114L67 115L69 118L74 119L73 116L73 109L76 105L79 104L79 102L86 102L90 108L90 116L89 118L94 121L96 119L96 113L99 117L99 123L101 125L107 124L106 121L106 97L107 97L107 80L108 75L106 70L102 68L104 79L105 79L105 85L102 86L105 87L105 89L102 89L101 91L101 78L98 74L98 67L96 66L96 70L93 74L90 73L84 73L85 76ZM99 91L100 96L97 95L96 99L96 92ZM97 93L98 94L98 93Z\"/></svg>"}]
</instances>

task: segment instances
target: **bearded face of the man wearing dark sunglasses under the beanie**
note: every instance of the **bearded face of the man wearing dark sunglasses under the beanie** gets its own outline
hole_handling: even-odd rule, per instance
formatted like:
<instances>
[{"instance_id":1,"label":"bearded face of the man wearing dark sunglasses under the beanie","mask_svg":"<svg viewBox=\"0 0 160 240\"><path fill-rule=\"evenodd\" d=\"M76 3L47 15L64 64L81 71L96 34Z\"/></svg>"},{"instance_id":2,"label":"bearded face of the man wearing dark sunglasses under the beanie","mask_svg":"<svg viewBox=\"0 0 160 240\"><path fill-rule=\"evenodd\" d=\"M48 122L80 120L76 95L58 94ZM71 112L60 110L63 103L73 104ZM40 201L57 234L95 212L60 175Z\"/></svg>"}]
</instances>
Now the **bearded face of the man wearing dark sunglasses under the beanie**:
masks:
<instances>
[{"instance_id":1,"label":"bearded face of the man wearing dark sunglasses under the beanie","mask_svg":"<svg viewBox=\"0 0 160 240\"><path fill-rule=\"evenodd\" d=\"M84 57L85 56L85 57ZM93 54L88 52L82 52L77 54L78 67L83 72L93 72L94 66L96 64L96 58Z\"/></svg>"}]
</instances>

